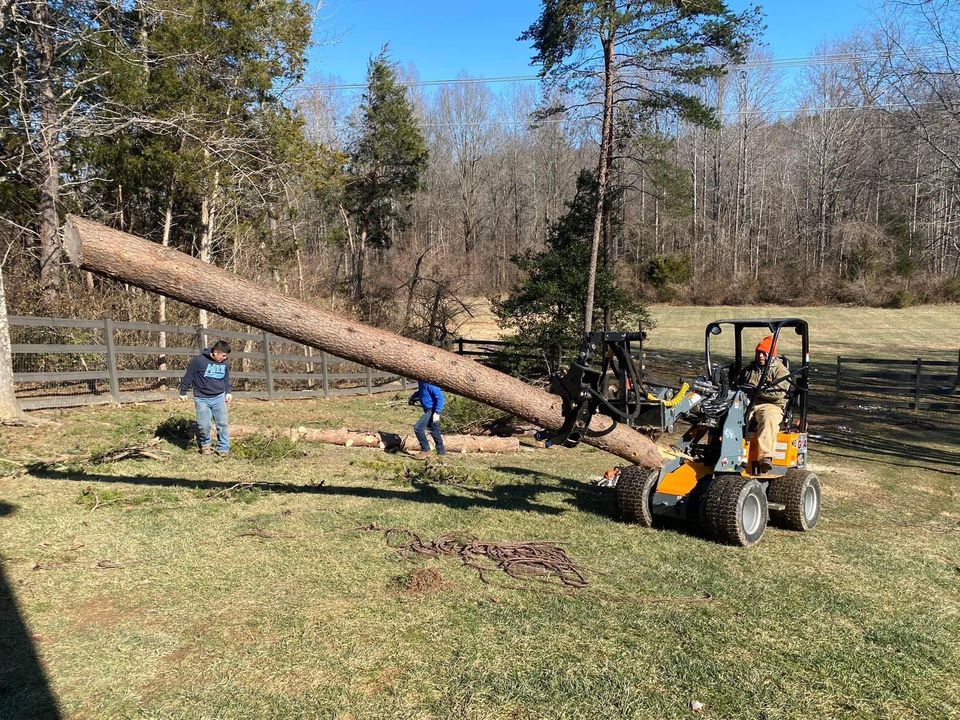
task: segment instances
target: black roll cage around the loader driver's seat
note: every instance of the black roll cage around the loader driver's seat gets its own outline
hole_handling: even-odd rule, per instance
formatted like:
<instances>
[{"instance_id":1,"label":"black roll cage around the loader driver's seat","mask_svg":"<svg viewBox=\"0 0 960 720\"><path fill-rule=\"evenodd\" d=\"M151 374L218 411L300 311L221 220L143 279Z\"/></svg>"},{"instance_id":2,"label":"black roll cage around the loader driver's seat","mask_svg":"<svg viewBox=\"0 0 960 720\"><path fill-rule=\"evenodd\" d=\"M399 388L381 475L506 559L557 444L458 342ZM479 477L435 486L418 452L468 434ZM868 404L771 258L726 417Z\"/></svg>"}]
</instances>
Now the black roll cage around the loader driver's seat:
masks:
<instances>
[{"instance_id":1,"label":"black roll cage around the loader driver's seat","mask_svg":"<svg viewBox=\"0 0 960 720\"><path fill-rule=\"evenodd\" d=\"M724 328L729 327L733 330L734 333L734 363L732 366L723 366L718 365L714 362L710 354L710 342L711 339L716 338L717 336L723 334ZM794 333L800 336L800 352L801 359L799 367L795 370L790 368L790 361L781 356L785 361L784 365L787 366L788 374L778 380L776 383L767 382L767 373L770 369L769 358L767 364L763 368L763 372L760 375L760 381L757 383L755 388L742 388L747 391L747 396L750 400L750 406L752 407L756 401L757 396L764 390L773 387L775 384L782 383L784 380L789 381L790 390L787 393L787 412L790 413L793 406L796 405L799 423L797 425L800 432L806 432L807 430L807 390L809 389L809 375L810 375L810 334L807 327L807 321L801 320L799 318L783 318L778 320L770 319L748 319L748 320L717 320L715 322L707 325L705 331L704 339L704 348L706 352L706 362L707 362L707 376L714 379L714 382L717 382L717 378L726 372L729 378L735 381L736 378L739 378L744 368L752 362L753 353L751 348L747 348L749 352L750 360L744 362L744 343L743 343L743 331L747 329L760 329L766 330L773 336L773 346L777 347L777 344L780 340L780 336L784 330L792 330ZM719 383L718 383L719 384Z\"/></svg>"}]
</instances>

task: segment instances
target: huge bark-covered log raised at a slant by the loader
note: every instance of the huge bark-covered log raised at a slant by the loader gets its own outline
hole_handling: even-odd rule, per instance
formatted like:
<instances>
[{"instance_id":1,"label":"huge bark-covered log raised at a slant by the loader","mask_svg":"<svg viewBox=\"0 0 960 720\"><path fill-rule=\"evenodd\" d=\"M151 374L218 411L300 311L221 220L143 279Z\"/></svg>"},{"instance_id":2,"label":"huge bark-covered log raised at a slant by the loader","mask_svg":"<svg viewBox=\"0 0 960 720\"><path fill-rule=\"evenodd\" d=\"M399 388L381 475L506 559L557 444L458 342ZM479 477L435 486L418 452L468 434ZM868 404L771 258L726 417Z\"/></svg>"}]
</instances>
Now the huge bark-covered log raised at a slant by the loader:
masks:
<instances>
[{"instance_id":1,"label":"huge bark-covered log raised at a slant by the loader","mask_svg":"<svg viewBox=\"0 0 960 720\"><path fill-rule=\"evenodd\" d=\"M83 270L206 308L339 357L436 383L549 430L563 425L560 399L483 365L394 333L367 327L258 285L171 248L69 216L64 239ZM653 441L596 415L585 442L649 468L660 467Z\"/></svg>"}]
</instances>

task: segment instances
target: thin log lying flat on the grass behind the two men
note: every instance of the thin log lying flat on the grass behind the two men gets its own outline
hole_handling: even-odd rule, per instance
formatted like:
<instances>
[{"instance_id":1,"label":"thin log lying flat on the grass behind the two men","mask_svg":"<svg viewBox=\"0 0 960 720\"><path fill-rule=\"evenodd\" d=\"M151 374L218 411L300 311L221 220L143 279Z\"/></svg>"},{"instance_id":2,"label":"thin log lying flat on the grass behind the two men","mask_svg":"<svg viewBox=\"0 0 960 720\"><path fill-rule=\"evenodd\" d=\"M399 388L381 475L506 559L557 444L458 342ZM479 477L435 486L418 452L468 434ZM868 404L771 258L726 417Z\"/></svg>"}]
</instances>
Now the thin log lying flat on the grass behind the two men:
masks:
<instances>
[{"instance_id":1,"label":"thin log lying flat on the grass behind the two men","mask_svg":"<svg viewBox=\"0 0 960 720\"><path fill-rule=\"evenodd\" d=\"M381 450L418 450L413 438L383 431L321 430L317 428L262 428L254 425L231 425L230 437L267 435L287 437L298 442L324 443L343 447L368 447ZM520 439L515 437L488 437L486 435L444 435L443 444L448 453L515 453L520 452Z\"/></svg>"}]
</instances>

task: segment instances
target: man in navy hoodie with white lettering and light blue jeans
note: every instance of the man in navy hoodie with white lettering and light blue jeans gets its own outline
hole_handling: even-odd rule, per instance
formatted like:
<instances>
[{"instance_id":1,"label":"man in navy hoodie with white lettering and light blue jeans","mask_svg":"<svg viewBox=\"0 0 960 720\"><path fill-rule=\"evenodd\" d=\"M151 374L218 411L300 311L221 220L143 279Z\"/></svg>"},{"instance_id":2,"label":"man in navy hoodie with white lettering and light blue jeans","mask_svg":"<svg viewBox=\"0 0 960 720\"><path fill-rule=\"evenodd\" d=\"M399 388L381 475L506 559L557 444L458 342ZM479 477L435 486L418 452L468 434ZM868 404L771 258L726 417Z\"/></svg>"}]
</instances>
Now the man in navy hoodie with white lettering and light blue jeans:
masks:
<instances>
[{"instance_id":1,"label":"man in navy hoodie with white lettering and light blue jeans","mask_svg":"<svg viewBox=\"0 0 960 720\"><path fill-rule=\"evenodd\" d=\"M218 340L212 347L197 355L187 366L180 381L180 399L186 401L187 391L193 387L193 403L197 408L197 425L200 426L200 454L209 455L210 421L217 424L217 455L230 454L230 429L227 418L227 403L230 394L230 366L227 355L230 343Z\"/></svg>"}]
</instances>

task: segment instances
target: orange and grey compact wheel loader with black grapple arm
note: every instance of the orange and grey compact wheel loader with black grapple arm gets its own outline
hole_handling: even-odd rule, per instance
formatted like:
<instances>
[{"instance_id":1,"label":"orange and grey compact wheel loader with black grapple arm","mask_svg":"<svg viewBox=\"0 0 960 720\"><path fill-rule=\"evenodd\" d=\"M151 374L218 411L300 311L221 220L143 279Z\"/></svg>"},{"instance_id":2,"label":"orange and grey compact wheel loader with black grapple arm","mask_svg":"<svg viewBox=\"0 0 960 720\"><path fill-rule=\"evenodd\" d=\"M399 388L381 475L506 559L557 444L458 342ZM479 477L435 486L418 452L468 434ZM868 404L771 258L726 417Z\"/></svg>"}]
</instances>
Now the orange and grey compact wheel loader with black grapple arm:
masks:
<instances>
[{"instance_id":1,"label":"orange and grey compact wheel loader with black grapple arm","mask_svg":"<svg viewBox=\"0 0 960 720\"><path fill-rule=\"evenodd\" d=\"M793 365L781 356L788 374L767 379L768 360L755 385L745 384L753 344L744 333L781 337L796 334L800 355ZM646 377L640 364L644 333L591 333L578 359L564 375L551 378L551 391L563 399L565 423L541 440L575 446L589 432L594 413L647 431L686 430L659 470L621 468L615 485L621 516L645 527L658 517L700 522L721 542L749 546L768 522L798 531L812 530L820 517L820 482L807 469L807 392L810 372L807 323L795 318L717 320L705 334L705 371L679 388ZM729 362L711 354L711 341L732 335ZM787 343L784 342L784 345ZM745 355L746 353L746 355ZM784 419L772 467L761 469L751 411L774 385L786 387Z\"/></svg>"}]
</instances>

